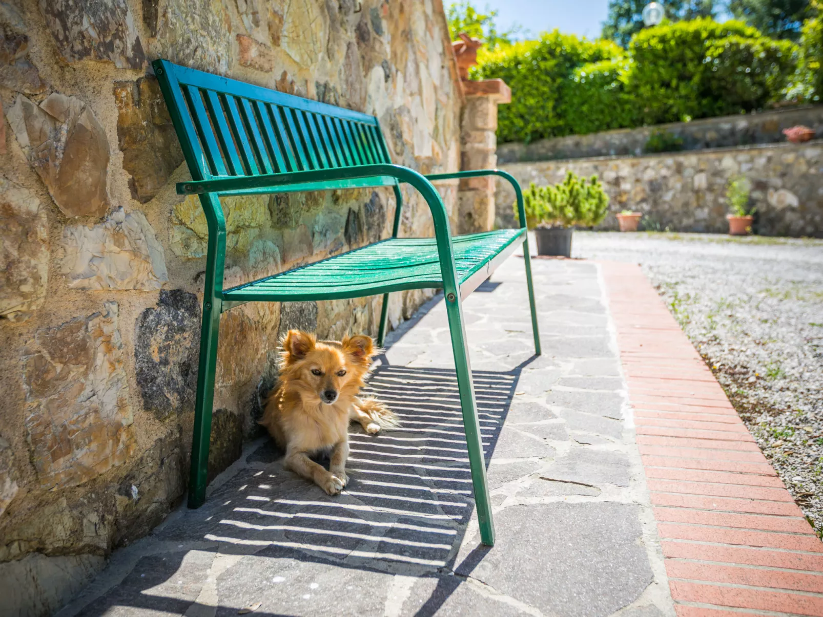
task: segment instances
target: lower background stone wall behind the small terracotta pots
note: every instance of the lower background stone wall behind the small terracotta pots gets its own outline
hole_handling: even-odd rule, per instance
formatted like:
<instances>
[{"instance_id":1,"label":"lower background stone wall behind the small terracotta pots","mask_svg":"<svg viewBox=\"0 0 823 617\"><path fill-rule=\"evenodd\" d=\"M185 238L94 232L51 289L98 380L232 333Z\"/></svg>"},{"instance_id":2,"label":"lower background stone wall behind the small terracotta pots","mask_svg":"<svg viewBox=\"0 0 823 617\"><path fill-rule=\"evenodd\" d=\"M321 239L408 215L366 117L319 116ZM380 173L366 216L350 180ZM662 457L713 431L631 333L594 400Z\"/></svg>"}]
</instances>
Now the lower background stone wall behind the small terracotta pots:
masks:
<instances>
[{"instance_id":1,"label":"lower background stone wall behind the small terracotta pots","mask_svg":"<svg viewBox=\"0 0 823 617\"><path fill-rule=\"evenodd\" d=\"M531 182L560 182L566 171L597 174L606 189L609 214L597 229L618 229L621 210L644 213L647 229L728 231L728 180L751 180L750 205L757 207L756 233L823 237L823 140L805 144L683 152L621 158L551 160L501 165L527 188ZM498 181L497 225L514 226L514 191Z\"/></svg>"}]
</instances>

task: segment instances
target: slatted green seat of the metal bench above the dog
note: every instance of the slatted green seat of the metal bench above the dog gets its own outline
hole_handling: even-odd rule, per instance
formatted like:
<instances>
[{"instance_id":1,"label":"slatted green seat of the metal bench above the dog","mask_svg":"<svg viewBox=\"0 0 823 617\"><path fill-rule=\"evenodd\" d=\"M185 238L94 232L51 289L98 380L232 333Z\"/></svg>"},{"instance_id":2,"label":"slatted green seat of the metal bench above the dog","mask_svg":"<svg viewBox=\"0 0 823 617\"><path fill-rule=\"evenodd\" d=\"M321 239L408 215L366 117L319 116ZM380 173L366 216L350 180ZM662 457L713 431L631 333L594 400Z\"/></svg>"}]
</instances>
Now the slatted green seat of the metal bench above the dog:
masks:
<instances>
[{"instance_id":1,"label":"slatted green seat of the metal bench above the dog","mask_svg":"<svg viewBox=\"0 0 823 617\"><path fill-rule=\"evenodd\" d=\"M454 236L454 265L465 298L498 263L523 244L525 230ZM434 238L389 238L308 266L223 291L224 301L298 302L360 298L390 291L443 287Z\"/></svg>"}]
</instances>

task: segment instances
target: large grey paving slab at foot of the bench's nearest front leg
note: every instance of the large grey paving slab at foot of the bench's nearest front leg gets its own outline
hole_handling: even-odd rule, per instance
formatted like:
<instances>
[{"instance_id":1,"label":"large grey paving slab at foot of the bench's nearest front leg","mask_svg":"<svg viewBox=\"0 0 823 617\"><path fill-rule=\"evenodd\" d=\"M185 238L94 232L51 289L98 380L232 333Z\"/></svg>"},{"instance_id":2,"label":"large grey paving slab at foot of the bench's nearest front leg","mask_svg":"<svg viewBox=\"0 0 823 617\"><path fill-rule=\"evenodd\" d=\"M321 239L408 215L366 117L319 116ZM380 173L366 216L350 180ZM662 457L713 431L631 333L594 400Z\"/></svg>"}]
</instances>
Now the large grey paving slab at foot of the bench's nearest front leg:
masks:
<instances>
[{"instance_id":1,"label":"large grey paving slab at foot of the bench's nearest front leg","mask_svg":"<svg viewBox=\"0 0 823 617\"><path fill-rule=\"evenodd\" d=\"M535 520L542 533L524 534ZM495 529L495 550L472 559L470 545L464 545L455 573L542 615L607 617L635 601L653 580L635 503L513 506L495 513Z\"/></svg>"}]
</instances>

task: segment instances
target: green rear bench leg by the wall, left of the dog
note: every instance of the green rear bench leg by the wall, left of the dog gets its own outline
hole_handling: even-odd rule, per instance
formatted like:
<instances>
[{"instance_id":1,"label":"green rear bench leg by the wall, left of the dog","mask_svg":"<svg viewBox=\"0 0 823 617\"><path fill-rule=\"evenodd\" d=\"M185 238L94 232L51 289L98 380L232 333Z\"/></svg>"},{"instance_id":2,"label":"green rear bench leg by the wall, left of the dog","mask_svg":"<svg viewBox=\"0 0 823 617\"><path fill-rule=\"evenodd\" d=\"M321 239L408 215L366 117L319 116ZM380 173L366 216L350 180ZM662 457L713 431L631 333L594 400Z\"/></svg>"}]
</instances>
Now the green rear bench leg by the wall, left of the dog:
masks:
<instances>
[{"instance_id":1,"label":"green rear bench leg by the wall, left of the dog","mask_svg":"<svg viewBox=\"0 0 823 617\"><path fill-rule=\"evenodd\" d=\"M188 476L188 507L200 508L206 501L208 480L208 448L212 437L212 404L217 368L217 337L220 333L219 300L203 302L203 322L200 332L200 364L197 399L194 404L194 434L192 466Z\"/></svg>"}]
</instances>

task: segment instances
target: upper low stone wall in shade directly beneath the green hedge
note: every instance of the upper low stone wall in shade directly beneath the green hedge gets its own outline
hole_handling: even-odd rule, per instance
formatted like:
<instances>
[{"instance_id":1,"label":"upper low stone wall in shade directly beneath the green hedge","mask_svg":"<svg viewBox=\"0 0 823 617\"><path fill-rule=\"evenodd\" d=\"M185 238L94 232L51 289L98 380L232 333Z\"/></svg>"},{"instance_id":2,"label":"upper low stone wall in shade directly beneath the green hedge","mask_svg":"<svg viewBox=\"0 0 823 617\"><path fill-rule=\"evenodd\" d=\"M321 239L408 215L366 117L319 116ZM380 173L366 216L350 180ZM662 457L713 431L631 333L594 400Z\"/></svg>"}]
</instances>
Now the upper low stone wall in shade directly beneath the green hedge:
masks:
<instances>
[{"instance_id":1,"label":"upper low stone wall in shade directly beneath the green hedge","mask_svg":"<svg viewBox=\"0 0 823 617\"><path fill-rule=\"evenodd\" d=\"M823 105L780 109L760 114L704 118L687 123L658 124L653 127L622 128L615 131L542 139L530 144L500 144L497 160L516 163L531 160L579 159L590 156L644 154L646 141L654 132L667 132L683 141L682 150L703 150L786 141L784 128L803 124L823 129Z\"/></svg>"}]
</instances>

